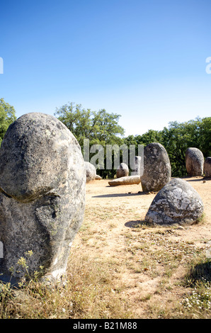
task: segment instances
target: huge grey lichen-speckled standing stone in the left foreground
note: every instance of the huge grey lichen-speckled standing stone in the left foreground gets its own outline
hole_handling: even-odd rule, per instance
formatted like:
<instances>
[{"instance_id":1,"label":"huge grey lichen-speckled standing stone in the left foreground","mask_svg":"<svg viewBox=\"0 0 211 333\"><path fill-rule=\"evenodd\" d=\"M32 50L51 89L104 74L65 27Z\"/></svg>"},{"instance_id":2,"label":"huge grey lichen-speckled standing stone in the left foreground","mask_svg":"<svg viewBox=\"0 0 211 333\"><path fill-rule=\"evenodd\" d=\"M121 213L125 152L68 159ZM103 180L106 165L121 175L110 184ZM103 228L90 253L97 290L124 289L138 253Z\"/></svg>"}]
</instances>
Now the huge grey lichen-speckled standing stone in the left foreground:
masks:
<instances>
[{"instance_id":1,"label":"huge grey lichen-speckled standing stone in the left foreground","mask_svg":"<svg viewBox=\"0 0 211 333\"><path fill-rule=\"evenodd\" d=\"M0 148L0 241L4 281L23 276L18 259L32 251L28 271L57 281L84 218L86 173L76 138L57 118L28 113L11 124Z\"/></svg>"}]
</instances>

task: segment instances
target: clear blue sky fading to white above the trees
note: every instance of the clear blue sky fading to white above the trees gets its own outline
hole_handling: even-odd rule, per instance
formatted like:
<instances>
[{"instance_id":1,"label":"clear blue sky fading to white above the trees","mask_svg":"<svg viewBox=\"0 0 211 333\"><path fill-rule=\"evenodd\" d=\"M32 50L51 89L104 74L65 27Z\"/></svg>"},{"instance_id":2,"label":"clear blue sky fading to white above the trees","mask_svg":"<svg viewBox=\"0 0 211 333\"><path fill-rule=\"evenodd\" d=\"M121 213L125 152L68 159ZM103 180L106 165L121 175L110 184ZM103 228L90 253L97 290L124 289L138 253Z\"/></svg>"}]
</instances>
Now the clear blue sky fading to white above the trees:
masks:
<instances>
[{"instance_id":1,"label":"clear blue sky fading to white above the trees","mask_svg":"<svg viewBox=\"0 0 211 333\"><path fill-rule=\"evenodd\" d=\"M210 0L1 0L0 98L121 116L125 135L211 116Z\"/></svg>"}]
</instances>

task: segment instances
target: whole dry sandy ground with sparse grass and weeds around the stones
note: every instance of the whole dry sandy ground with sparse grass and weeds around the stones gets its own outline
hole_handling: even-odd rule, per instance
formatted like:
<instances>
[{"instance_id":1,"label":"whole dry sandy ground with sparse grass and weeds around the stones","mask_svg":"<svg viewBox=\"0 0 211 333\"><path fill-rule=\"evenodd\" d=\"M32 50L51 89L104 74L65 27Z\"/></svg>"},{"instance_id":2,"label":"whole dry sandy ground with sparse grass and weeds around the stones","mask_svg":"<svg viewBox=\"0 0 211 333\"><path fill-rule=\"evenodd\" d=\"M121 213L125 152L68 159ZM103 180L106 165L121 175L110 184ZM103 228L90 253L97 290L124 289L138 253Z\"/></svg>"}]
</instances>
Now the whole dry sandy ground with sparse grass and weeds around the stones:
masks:
<instances>
[{"instance_id":1,"label":"whole dry sandy ground with sparse grass and weeds around the stones","mask_svg":"<svg viewBox=\"0 0 211 333\"><path fill-rule=\"evenodd\" d=\"M211 318L210 180L186 179L205 215L189 227L144 223L155 193L141 186L86 184L84 224L76 235L67 285L31 278L19 290L0 285L1 318Z\"/></svg>"}]
</instances>

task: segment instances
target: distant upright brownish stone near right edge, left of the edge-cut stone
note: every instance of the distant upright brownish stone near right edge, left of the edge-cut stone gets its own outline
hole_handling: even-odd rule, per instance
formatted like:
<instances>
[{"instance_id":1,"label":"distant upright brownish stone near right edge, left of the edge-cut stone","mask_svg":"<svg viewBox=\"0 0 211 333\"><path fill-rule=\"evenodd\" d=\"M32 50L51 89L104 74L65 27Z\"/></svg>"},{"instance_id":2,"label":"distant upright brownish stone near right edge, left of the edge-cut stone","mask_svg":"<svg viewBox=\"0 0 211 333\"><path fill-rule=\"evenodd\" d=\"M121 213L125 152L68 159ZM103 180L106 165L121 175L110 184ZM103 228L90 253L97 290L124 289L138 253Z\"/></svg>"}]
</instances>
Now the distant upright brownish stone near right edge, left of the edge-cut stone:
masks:
<instances>
[{"instance_id":1,"label":"distant upright brownish stone near right edge, left of the edge-cut stone","mask_svg":"<svg viewBox=\"0 0 211 333\"><path fill-rule=\"evenodd\" d=\"M203 176L204 156L200 149L190 147L186 150L186 170L188 176Z\"/></svg>"}]
</instances>

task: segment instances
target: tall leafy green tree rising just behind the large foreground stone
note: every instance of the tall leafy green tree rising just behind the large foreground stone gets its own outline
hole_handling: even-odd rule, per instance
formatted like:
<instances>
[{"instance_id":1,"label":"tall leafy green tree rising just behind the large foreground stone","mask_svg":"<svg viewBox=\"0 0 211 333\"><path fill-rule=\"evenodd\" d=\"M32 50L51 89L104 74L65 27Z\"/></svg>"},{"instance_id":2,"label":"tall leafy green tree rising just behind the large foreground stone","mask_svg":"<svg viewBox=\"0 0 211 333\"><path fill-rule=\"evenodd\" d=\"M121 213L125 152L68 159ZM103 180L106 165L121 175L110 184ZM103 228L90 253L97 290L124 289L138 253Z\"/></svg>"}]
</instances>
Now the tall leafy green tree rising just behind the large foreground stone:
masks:
<instances>
[{"instance_id":1,"label":"tall leafy green tree rising just behind the large foreground stone","mask_svg":"<svg viewBox=\"0 0 211 333\"><path fill-rule=\"evenodd\" d=\"M57 108L55 116L69 128L76 137L84 154L84 139L89 139L89 145L101 145L104 149L104 164L98 174L105 178L113 177L114 170L106 170L106 145L121 145L125 130L118 124L120 115L108 113L105 109L91 111L81 108L80 104L67 103ZM90 159L94 153L90 154Z\"/></svg>"}]
</instances>

